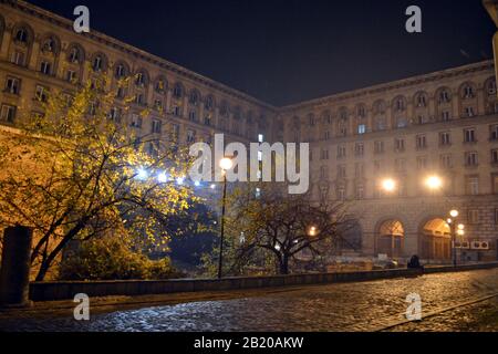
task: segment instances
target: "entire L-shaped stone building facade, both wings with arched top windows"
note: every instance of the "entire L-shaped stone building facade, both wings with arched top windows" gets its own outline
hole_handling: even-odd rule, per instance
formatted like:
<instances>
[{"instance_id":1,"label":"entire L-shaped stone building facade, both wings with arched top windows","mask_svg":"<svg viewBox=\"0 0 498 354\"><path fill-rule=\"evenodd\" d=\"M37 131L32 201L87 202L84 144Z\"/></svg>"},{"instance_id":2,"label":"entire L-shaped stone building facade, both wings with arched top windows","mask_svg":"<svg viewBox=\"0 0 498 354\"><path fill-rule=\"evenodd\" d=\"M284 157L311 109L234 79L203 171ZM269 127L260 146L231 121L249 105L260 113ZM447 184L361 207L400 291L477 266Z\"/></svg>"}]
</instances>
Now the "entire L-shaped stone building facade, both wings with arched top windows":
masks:
<instances>
[{"instance_id":1,"label":"entire L-shaped stone building facade, both wings with arched top windows","mask_svg":"<svg viewBox=\"0 0 498 354\"><path fill-rule=\"evenodd\" d=\"M0 0L0 123L38 113L46 91L74 88L89 67L113 84L137 77L136 112L116 118L185 144L227 140L311 144L311 192L344 200L359 225L359 256L446 262L448 211L465 225L460 259L497 259L498 103L492 61L299 104L273 107L179 65L28 4ZM138 115L144 107L149 116ZM440 183L427 187L427 178ZM390 181L390 188L386 187ZM468 243L467 243L468 242Z\"/></svg>"}]
</instances>

